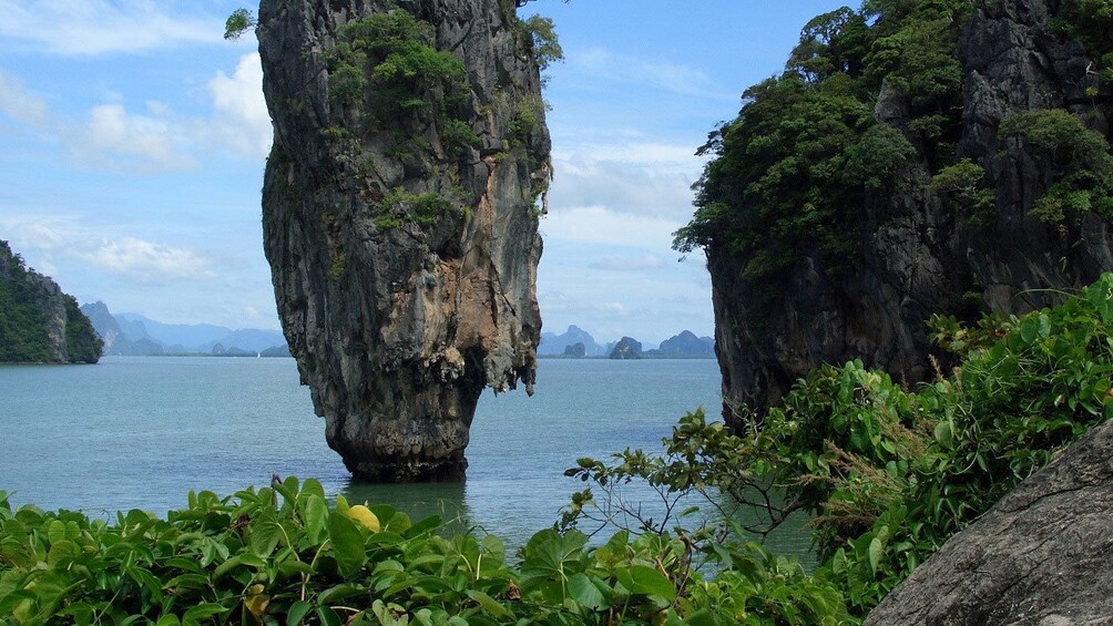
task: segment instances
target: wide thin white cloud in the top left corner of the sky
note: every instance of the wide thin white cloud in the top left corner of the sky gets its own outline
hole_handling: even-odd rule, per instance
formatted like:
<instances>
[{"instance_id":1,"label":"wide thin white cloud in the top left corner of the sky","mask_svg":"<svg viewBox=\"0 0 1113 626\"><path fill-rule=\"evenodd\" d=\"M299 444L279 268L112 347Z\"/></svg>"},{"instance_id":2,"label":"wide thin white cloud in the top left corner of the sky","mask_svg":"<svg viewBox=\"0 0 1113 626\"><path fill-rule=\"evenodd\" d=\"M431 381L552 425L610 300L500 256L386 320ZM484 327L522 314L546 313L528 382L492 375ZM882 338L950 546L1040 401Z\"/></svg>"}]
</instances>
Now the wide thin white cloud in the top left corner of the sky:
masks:
<instances>
[{"instance_id":1,"label":"wide thin white cloud in the top left corner of the sky","mask_svg":"<svg viewBox=\"0 0 1113 626\"><path fill-rule=\"evenodd\" d=\"M150 0L0 0L0 37L66 56L219 43L224 33L219 17L173 14Z\"/></svg>"}]
</instances>

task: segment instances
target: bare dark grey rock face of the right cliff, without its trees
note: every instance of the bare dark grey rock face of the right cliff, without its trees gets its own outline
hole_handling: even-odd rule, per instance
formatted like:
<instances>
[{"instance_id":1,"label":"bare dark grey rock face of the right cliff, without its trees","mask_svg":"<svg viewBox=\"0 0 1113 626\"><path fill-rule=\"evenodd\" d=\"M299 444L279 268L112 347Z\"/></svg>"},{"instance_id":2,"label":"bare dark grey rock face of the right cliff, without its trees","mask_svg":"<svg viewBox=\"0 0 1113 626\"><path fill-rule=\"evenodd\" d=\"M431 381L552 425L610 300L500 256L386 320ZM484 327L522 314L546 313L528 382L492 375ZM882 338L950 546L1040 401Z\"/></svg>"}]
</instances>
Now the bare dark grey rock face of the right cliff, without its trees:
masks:
<instances>
[{"instance_id":1,"label":"bare dark grey rock face of the right cliff, without its trees","mask_svg":"<svg viewBox=\"0 0 1113 626\"><path fill-rule=\"evenodd\" d=\"M1051 108L1086 111L1109 136L1109 125L1092 107L1095 98L1084 97L1095 85L1090 59L1078 43L1050 32L1057 6L977 2L959 43L964 111L957 151L985 168L997 195L994 223L965 227L926 185L926 166L912 163L903 191L873 198L866 207L861 269L833 279L814 257L804 259L779 286L777 314L760 329L740 320L751 296L739 259L725 247L708 247L728 421L740 424L749 408L764 413L823 362L860 358L898 379L923 380L932 371L924 325L932 314L972 302L1024 312L1054 297L1041 290L1081 287L1113 269L1110 225L1091 213L1064 237L1033 217L1033 202L1056 172L1016 139L997 137L1009 113ZM1107 100L1109 87L1101 90L1096 100ZM904 97L883 85L875 118L902 128L907 111Z\"/></svg>"}]
</instances>

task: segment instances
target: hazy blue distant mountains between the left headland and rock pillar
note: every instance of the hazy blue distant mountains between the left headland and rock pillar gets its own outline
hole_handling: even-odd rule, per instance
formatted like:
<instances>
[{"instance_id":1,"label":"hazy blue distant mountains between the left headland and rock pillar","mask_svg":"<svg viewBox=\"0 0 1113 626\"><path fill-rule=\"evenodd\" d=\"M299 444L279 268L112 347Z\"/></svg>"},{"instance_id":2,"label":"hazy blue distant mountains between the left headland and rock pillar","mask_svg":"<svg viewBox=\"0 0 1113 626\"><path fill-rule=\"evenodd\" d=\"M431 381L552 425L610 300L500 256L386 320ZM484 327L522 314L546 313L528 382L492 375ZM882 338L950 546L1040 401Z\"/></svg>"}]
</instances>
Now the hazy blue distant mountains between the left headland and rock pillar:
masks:
<instances>
[{"instance_id":1,"label":"hazy blue distant mountains between the left headland and rock pillar","mask_svg":"<svg viewBox=\"0 0 1113 626\"><path fill-rule=\"evenodd\" d=\"M139 314L112 315L105 302L82 305L81 312L105 342L106 355L289 356L286 338L277 330L164 324Z\"/></svg>"}]
</instances>

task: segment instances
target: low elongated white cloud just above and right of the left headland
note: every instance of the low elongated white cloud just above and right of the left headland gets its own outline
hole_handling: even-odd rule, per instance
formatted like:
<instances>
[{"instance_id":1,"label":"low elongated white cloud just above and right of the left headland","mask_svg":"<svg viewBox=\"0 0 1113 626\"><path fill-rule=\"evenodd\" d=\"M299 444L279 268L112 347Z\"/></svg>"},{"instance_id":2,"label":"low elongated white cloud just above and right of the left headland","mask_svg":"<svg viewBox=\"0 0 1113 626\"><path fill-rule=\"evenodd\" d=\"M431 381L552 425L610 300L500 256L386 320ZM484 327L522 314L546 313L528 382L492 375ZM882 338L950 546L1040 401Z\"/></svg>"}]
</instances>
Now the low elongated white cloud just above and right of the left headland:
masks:
<instances>
[{"instance_id":1,"label":"low elongated white cloud just above and right of the left headland","mask_svg":"<svg viewBox=\"0 0 1113 626\"><path fill-rule=\"evenodd\" d=\"M75 256L112 272L151 281L160 278L208 280L216 277L208 260L185 248L125 237L79 246Z\"/></svg>"}]
</instances>

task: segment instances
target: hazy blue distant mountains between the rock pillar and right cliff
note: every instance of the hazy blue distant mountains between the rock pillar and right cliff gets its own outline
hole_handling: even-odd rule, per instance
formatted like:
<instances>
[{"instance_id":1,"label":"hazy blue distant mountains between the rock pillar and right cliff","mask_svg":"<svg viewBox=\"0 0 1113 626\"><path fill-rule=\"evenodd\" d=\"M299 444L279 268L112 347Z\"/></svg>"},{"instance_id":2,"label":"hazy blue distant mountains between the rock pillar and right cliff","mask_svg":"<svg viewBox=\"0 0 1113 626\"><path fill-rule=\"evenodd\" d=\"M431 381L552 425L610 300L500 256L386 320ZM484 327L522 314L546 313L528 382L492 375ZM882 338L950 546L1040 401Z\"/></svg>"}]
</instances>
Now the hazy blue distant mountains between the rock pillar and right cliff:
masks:
<instances>
[{"instance_id":1,"label":"hazy blue distant mountains between the rock pillar and right cliff","mask_svg":"<svg viewBox=\"0 0 1113 626\"><path fill-rule=\"evenodd\" d=\"M572 325L560 335L555 332L542 332L541 345L538 346L538 356L561 358L610 357L615 348L621 345L621 356L618 358L715 358L715 339L711 337L697 337L690 330L682 330L679 335L661 341L660 347L646 351L641 350L641 342L636 339L629 337L623 337L623 339L627 341L600 345L587 330Z\"/></svg>"}]
</instances>

